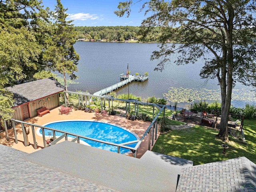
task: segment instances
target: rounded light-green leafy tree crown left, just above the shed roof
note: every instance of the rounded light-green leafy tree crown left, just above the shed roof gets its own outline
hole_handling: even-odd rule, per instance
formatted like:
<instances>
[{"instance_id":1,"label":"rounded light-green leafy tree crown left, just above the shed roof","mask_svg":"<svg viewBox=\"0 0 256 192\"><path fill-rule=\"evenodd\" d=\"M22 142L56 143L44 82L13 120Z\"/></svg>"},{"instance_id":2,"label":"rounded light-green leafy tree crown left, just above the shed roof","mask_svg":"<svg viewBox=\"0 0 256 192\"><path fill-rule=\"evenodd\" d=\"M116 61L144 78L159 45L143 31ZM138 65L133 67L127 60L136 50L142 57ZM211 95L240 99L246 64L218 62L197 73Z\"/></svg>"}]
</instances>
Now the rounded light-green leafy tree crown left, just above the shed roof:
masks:
<instances>
[{"instance_id":1,"label":"rounded light-green leafy tree crown left, just above the shed roof","mask_svg":"<svg viewBox=\"0 0 256 192\"><path fill-rule=\"evenodd\" d=\"M41 46L27 28L0 27L0 86L11 86L31 78L38 68Z\"/></svg>"}]
</instances>

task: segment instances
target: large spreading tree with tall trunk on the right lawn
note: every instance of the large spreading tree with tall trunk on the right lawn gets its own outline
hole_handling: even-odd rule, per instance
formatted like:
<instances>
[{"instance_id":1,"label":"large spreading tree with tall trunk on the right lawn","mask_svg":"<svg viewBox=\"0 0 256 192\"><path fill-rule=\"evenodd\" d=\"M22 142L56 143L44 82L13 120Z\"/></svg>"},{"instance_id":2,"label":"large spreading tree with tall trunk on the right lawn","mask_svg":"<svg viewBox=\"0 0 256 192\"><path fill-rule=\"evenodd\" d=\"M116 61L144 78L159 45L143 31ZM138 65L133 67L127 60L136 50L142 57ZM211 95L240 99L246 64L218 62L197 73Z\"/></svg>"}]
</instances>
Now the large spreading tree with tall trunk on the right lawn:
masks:
<instances>
[{"instance_id":1,"label":"large spreading tree with tall trunk on the right lawn","mask_svg":"<svg viewBox=\"0 0 256 192\"><path fill-rule=\"evenodd\" d=\"M129 16L132 5L132 0L121 2L115 14ZM218 79L222 110L218 136L225 141L234 84L256 85L255 5L255 0L150 0L142 6L151 16L142 21L140 34L161 27L162 44L151 57L160 60L155 70L164 70L170 56L178 53L176 64L204 58L200 76ZM166 44L167 40L176 43Z\"/></svg>"}]
</instances>

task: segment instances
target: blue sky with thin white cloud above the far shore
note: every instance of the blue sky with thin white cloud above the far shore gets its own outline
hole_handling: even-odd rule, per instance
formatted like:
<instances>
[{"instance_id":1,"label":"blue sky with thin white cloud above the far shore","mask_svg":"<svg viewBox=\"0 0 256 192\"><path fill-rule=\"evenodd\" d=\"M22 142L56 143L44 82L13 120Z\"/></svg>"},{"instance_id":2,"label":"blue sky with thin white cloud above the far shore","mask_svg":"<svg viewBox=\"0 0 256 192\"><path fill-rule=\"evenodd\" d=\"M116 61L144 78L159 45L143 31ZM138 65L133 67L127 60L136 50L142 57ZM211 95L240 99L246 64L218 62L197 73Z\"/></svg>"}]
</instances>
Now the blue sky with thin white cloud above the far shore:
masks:
<instances>
[{"instance_id":1,"label":"blue sky with thin white cloud above the far shore","mask_svg":"<svg viewBox=\"0 0 256 192\"><path fill-rule=\"evenodd\" d=\"M142 3L132 7L129 18L116 16L114 11L120 1L125 0L61 0L68 14L67 20L74 20L74 26L140 26L146 18L144 12L139 12ZM42 0L44 7L54 11L55 0Z\"/></svg>"}]
</instances>

